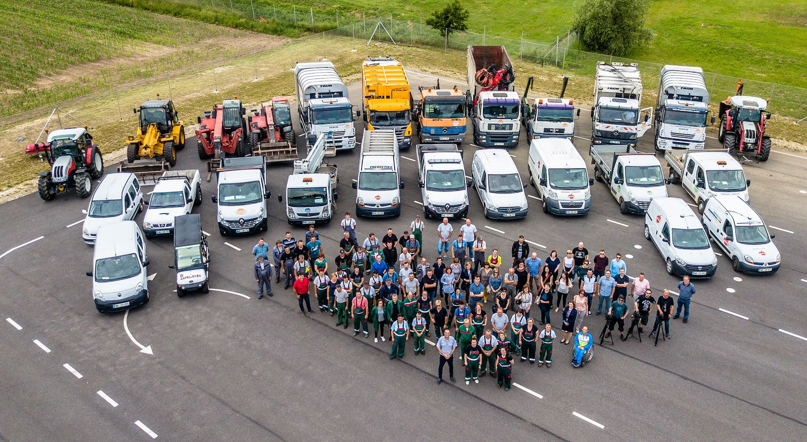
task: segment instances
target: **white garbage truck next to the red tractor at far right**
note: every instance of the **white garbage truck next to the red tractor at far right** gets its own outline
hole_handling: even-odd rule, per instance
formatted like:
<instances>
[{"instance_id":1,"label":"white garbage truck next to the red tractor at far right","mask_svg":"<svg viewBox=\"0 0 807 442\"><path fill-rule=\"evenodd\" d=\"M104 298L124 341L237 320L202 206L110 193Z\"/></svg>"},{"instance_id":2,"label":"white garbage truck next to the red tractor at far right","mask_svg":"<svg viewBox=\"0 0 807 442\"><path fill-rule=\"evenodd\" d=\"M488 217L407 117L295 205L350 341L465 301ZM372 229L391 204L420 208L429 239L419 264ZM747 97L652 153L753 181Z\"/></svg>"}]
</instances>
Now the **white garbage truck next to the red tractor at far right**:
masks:
<instances>
[{"instance_id":1,"label":"white garbage truck next to the red tractor at far right","mask_svg":"<svg viewBox=\"0 0 807 442\"><path fill-rule=\"evenodd\" d=\"M655 149L704 148L708 105L703 69L665 65L655 110Z\"/></svg>"}]
</instances>

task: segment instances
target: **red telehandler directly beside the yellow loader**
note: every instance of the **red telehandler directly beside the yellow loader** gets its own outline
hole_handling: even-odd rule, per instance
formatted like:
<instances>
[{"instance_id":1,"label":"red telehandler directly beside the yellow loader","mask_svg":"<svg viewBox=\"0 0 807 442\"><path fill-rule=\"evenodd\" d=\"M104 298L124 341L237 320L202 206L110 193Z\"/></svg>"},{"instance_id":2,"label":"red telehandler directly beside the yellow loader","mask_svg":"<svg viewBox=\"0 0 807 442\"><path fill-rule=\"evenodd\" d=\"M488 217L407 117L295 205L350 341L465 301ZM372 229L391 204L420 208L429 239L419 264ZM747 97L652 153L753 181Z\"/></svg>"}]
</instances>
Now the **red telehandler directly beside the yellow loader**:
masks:
<instances>
[{"instance_id":1,"label":"red telehandler directly beside the yellow loader","mask_svg":"<svg viewBox=\"0 0 807 442\"><path fill-rule=\"evenodd\" d=\"M213 106L212 112L205 112L198 117L199 128L196 129L196 148L199 159L221 156L246 156L247 123L246 110L238 98L224 100L224 103Z\"/></svg>"}]
</instances>

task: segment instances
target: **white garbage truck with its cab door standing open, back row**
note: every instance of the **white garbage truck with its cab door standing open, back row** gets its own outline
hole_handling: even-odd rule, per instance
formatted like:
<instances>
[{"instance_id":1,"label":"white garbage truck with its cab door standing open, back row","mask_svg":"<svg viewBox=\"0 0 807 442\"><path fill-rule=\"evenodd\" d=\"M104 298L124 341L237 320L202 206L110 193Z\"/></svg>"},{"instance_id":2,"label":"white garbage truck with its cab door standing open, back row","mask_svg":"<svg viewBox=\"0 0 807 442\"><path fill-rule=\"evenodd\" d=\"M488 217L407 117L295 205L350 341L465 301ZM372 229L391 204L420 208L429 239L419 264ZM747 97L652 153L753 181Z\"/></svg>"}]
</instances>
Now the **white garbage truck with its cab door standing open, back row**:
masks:
<instances>
[{"instance_id":1,"label":"white garbage truck with its cab door standing open, back row","mask_svg":"<svg viewBox=\"0 0 807 442\"><path fill-rule=\"evenodd\" d=\"M642 77L636 63L597 62L592 144L630 144L653 125L653 108L639 109ZM643 116L642 116L643 115Z\"/></svg>"}]
</instances>

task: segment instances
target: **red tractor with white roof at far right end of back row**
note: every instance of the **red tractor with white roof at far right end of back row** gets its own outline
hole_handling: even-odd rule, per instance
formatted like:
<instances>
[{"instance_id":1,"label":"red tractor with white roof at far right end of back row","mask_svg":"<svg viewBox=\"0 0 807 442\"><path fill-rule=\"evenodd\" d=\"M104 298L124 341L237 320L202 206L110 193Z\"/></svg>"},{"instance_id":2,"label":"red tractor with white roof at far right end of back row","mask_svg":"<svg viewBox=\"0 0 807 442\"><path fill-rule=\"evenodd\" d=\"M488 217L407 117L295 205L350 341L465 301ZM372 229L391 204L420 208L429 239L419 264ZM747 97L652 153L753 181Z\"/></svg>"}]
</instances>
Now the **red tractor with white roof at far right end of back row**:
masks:
<instances>
[{"instance_id":1,"label":"red tractor with white roof at far right end of back row","mask_svg":"<svg viewBox=\"0 0 807 442\"><path fill-rule=\"evenodd\" d=\"M771 137L765 135L765 122L771 119L771 113L765 111L766 107L767 100L742 95L742 81L738 81L737 94L720 102L717 140L726 152L745 161L767 161Z\"/></svg>"}]
</instances>

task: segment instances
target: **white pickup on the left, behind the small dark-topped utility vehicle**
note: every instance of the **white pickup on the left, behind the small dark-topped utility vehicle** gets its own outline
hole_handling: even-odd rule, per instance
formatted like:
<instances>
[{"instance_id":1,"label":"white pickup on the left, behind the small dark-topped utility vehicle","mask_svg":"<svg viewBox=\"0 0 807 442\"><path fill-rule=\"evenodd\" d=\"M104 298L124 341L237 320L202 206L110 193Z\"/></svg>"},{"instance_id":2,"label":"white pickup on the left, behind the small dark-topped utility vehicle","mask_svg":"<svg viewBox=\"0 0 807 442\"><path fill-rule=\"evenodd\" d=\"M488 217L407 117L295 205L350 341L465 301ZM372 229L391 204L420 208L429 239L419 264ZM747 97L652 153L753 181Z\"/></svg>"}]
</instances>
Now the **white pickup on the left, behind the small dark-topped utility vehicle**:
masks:
<instances>
[{"instance_id":1,"label":"white pickup on the left, behind the small dark-topped utility vehicle","mask_svg":"<svg viewBox=\"0 0 807 442\"><path fill-rule=\"evenodd\" d=\"M174 233L174 218L187 215L194 206L202 203L202 176L199 170L168 170L157 178L157 185L146 202L148 210L143 217L146 237Z\"/></svg>"}]
</instances>

